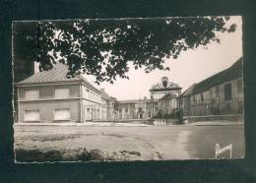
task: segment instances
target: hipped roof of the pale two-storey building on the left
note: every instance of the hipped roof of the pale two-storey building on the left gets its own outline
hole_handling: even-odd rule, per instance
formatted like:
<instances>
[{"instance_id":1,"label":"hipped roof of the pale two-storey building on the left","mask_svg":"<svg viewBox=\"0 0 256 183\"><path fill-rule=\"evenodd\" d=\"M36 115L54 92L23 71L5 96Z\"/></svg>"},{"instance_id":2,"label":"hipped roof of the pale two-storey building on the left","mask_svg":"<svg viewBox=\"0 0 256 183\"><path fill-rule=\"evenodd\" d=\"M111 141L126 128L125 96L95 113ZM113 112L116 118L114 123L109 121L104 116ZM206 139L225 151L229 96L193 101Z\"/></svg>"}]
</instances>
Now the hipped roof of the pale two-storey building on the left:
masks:
<instances>
[{"instance_id":1,"label":"hipped roof of the pale two-storey building on the left","mask_svg":"<svg viewBox=\"0 0 256 183\"><path fill-rule=\"evenodd\" d=\"M98 91L84 76L75 76L74 78L67 78L68 67L64 64L56 64L49 71L42 71L35 73L31 77L18 82L17 85L31 85L31 84L44 84L44 83L59 83L59 82L74 82L82 81L89 88ZM98 91L100 92L100 91Z\"/></svg>"}]
</instances>

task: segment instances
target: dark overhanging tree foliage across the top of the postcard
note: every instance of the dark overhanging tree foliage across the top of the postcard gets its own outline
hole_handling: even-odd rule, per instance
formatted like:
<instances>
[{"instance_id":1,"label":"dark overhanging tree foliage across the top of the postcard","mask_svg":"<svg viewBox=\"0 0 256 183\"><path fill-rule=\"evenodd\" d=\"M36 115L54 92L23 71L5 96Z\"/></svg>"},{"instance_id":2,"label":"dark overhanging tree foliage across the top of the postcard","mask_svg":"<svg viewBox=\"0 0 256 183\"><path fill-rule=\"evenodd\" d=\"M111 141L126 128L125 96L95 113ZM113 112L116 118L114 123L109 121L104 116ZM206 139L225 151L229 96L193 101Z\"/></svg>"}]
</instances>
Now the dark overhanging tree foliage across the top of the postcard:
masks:
<instances>
[{"instance_id":1,"label":"dark overhanging tree foliage across the top of the postcard","mask_svg":"<svg viewBox=\"0 0 256 183\"><path fill-rule=\"evenodd\" d=\"M13 27L15 59L39 62L50 70L67 64L68 77L81 73L96 83L128 78L128 62L149 73L168 70L166 58L210 42L217 32L232 32L228 17L108 19L16 22Z\"/></svg>"}]
</instances>

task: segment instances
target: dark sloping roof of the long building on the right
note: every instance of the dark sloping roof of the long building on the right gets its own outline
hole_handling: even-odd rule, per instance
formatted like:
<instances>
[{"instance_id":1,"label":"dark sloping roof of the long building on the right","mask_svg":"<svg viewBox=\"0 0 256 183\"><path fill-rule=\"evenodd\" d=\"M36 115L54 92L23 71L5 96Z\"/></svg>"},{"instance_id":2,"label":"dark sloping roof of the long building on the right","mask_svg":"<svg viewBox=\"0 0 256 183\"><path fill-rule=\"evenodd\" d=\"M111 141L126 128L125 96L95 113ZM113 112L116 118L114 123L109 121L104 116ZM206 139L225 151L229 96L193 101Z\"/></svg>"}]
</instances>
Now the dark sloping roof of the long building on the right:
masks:
<instances>
[{"instance_id":1,"label":"dark sloping roof of the long building on the right","mask_svg":"<svg viewBox=\"0 0 256 183\"><path fill-rule=\"evenodd\" d=\"M181 95L195 94L201 91L207 91L212 87L221 85L225 82L242 77L242 57L239 58L233 65L229 68L217 73L198 84L194 84Z\"/></svg>"}]
</instances>

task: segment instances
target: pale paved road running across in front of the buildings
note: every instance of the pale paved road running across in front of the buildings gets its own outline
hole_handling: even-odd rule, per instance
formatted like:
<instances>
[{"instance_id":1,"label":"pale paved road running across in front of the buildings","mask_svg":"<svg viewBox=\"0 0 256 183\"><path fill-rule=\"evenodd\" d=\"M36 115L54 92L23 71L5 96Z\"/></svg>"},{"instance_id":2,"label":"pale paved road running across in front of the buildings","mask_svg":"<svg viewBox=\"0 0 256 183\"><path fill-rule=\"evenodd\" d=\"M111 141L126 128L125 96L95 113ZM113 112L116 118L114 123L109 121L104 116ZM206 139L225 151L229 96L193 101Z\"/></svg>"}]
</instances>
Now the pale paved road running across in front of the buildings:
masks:
<instances>
[{"instance_id":1,"label":"pale paved road running across in front of the buildings","mask_svg":"<svg viewBox=\"0 0 256 183\"><path fill-rule=\"evenodd\" d=\"M243 125L233 126L16 126L17 150L100 150L126 160L214 158L215 146L232 144L244 155ZM224 153L227 156L228 152ZM122 159L122 158L120 158Z\"/></svg>"}]
</instances>

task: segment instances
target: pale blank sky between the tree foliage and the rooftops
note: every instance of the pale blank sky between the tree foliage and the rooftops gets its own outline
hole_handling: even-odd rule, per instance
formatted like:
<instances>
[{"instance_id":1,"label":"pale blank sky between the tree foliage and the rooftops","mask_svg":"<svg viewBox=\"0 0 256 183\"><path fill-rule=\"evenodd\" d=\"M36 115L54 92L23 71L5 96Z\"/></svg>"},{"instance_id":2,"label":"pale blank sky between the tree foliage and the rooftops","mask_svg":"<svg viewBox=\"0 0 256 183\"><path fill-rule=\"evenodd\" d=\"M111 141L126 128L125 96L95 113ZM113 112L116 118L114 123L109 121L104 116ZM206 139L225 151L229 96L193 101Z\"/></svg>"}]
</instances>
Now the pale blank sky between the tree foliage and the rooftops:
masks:
<instances>
[{"instance_id":1,"label":"pale blank sky between the tree foliage and the rooftops","mask_svg":"<svg viewBox=\"0 0 256 183\"><path fill-rule=\"evenodd\" d=\"M230 24L235 23L237 30L232 33L219 33L221 43L211 43L204 49L199 47L183 52L176 60L168 59L165 64L170 71L155 70L146 74L143 70L130 67L130 80L117 79L114 84L102 83L96 88L103 88L117 99L139 99L149 97L151 87L167 76L171 82L178 84L185 91L198 83L232 65L242 56L242 22L240 17L231 17ZM90 79L91 82L94 79Z\"/></svg>"}]
</instances>

